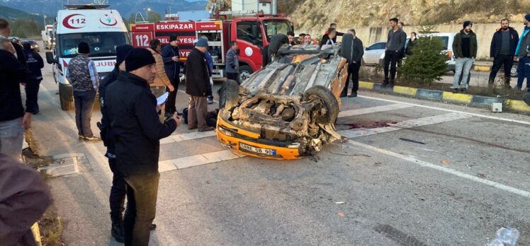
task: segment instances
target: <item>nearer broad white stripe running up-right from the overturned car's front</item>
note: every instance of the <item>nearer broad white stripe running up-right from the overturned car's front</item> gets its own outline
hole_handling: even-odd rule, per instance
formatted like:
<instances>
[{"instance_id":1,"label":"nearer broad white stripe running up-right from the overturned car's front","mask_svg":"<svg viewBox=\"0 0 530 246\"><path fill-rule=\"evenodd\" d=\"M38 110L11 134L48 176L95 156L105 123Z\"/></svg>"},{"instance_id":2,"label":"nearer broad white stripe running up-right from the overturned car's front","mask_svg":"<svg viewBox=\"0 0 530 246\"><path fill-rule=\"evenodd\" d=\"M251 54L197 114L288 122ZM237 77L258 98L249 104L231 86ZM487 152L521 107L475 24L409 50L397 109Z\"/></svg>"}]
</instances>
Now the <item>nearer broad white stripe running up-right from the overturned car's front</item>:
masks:
<instances>
[{"instance_id":1,"label":"nearer broad white stripe running up-right from the overturned car's front","mask_svg":"<svg viewBox=\"0 0 530 246\"><path fill-rule=\"evenodd\" d=\"M463 115L460 113L449 113L445 115L434 115L432 117L424 117L419 119L409 119L404 122L398 122L397 124L388 124L390 127L377 127L377 128L359 128L338 131L341 136L346 138L356 138L359 136L369 136L373 134L380 134L388 131L397 131L400 129L408 129L412 127L422 127L430 124L439 124L444 122L451 122L457 119L466 119L471 117L470 115Z\"/></svg>"}]
</instances>

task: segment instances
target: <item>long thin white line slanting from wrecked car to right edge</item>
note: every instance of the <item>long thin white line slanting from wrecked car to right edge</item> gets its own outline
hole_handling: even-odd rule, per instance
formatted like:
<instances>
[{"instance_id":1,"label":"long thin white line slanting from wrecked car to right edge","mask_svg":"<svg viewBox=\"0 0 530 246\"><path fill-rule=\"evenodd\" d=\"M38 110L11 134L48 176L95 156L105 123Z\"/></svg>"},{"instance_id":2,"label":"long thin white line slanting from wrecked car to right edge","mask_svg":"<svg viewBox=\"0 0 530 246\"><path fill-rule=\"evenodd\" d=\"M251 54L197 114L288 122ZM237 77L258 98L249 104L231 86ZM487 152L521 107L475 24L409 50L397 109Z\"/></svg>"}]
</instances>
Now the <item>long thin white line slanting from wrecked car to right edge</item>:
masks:
<instances>
[{"instance_id":1,"label":"long thin white line slanting from wrecked car to right edge","mask_svg":"<svg viewBox=\"0 0 530 246\"><path fill-rule=\"evenodd\" d=\"M467 173L460 172L460 171L457 171L457 170L453 170L451 168L446 168L446 167L442 167L440 165L428 163L427 161L418 160L417 158L414 158L412 156L404 156L404 155L399 154L399 153L394 153L392 151L387 151L387 150L385 150L383 148L378 148L378 147L371 146L371 145L368 145L368 144L362 144L362 143L359 143L357 141L349 141L348 144L351 144L351 145L354 145L354 146L359 146L361 148L367 148L367 149L369 149L371 151L382 153L382 154L385 154L387 156L393 156L395 158L400 158L402 160L407 160L407 161L409 161L411 163L416 163L416 164L420 165L421 167L432 168L434 170L439 170L439 171L442 171L442 172L446 172L446 173L449 173L451 175L456 175L458 177L463 177L463 178L465 178L467 180L471 180L473 182L478 182L478 183L481 183L483 185L488 185L490 187L495 187L497 189L502 189L505 192L511 192L511 193L517 194L517 195L519 195L521 197L530 198L530 192L526 192L526 191L524 191L522 189L517 189L517 188L514 188L514 187L507 186L507 185L502 185L502 184L499 184L497 182L493 182L493 181L490 181L490 180L485 180L483 178L475 177L473 175L468 175Z\"/></svg>"}]
</instances>

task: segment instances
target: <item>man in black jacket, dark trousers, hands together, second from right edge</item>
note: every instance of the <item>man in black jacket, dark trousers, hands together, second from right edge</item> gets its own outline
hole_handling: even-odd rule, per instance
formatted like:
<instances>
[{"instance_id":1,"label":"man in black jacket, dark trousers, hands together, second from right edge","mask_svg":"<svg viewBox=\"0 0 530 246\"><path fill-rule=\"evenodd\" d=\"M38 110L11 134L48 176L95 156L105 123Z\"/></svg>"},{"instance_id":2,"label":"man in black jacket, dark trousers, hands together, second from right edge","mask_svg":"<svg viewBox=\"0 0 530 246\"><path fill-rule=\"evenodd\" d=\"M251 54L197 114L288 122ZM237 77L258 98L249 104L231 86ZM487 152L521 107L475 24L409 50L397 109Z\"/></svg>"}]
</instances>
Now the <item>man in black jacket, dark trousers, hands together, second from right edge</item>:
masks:
<instances>
[{"instance_id":1,"label":"man in black jacket, dark trousers, hands together, second from right edge","mask_svg":"<svg viewBox=\"0 0 530 246\"><path fill-rule=\"evenodd\" d=\"M512 76L510 71L514 64L514 54L519 42L517 30L509 26L507 18L500 21L500 28L493 34L490 46L490 57L493 60L493 66L490 72L490 79L487 81L491 87L495 83L495 76L500 67L504 65L504 87L510 88L509 79Z\"/></svg>"}]
</instances>

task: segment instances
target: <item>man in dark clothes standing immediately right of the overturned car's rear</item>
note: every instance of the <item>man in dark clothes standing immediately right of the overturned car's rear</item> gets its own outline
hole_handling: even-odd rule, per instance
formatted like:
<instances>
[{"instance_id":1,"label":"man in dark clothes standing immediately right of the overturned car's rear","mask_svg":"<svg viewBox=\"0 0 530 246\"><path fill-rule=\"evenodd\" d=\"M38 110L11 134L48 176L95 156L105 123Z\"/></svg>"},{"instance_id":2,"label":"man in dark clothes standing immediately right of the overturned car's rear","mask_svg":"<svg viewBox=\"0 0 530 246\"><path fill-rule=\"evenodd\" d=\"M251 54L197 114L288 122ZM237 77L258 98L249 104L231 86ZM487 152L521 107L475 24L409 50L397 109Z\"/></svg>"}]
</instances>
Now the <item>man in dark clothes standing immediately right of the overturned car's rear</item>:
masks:
<instances>
[{"instance_id":1,"label":"man in dark clothes standing immediately right of the overturned car's rear","mask_svg":"<svg viewBox=\"0 0 530 246\"><path fill-rule=\"evenodd\" d=\"M344 85L341 97L344 98L348 95L349 78L351 76L351 82L354 83L354 87L351 88L351 93L348 95L348 98L355 98L357 96L357 90L359 90L359 69L361 69L361 59L363 59L364 49L363 42L356 37L354 29L348 30L348 33L344 37L346 35L351 35L353 42L351 43L351 47L349 47L351 56L348 57L350 59L348 61L348 78L346 79L346 85Z\"/></svg>"}]
</instances>

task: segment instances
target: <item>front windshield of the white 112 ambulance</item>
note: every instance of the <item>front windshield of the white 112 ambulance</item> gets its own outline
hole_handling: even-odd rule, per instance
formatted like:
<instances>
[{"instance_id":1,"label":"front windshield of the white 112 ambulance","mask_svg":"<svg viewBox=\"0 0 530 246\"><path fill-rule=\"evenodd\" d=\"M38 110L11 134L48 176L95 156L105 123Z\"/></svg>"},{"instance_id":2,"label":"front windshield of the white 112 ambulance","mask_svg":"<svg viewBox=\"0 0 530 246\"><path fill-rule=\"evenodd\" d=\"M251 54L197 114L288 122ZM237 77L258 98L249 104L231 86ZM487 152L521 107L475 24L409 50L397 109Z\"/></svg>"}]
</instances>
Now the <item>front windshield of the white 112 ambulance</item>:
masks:
<instances>
[{"instance_id":1,"label":"front windshield of the white 112 ambulance","mask_svg":"<svg viewBox=\"0 0 530 246\"><path fill-rule=\"evenodd\" d=\"M115 47L130 45L125 32L93 32L57 34L57 57L73 58L77 56L77 45L81 41L90 45L90 57L115 57ZM110 40L110 41L108 41Z\"/></svg>"}]
</instances>

